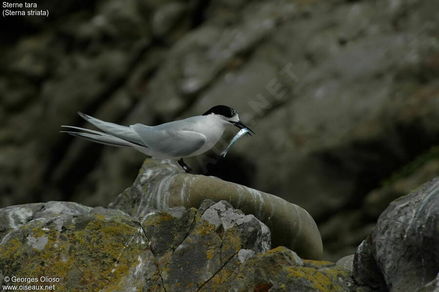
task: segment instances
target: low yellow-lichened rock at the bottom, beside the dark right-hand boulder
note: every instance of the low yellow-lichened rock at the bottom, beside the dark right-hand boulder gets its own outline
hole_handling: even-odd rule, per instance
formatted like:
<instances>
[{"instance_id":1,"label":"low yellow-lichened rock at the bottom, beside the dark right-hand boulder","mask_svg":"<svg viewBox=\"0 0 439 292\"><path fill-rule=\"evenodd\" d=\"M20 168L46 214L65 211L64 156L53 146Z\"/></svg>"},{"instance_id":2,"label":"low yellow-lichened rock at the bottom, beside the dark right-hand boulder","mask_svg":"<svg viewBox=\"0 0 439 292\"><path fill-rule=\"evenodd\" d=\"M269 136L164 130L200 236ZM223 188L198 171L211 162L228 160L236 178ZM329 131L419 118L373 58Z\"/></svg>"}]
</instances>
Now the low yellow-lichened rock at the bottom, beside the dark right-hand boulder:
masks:
<instances>
[{"instance_id":1,"label":"low yellow-lichened rock at the bottom, beside the dark right-hand boulder","mask_svg":"<svg viewBox=\"0 0 439 292\"><path fill-rule=\"evenodd\" d=\"M242 261L232 258L202 289L202 292L353 292L350 272L334 263L302 260L278 247Z\"/></svg>"}]
</instances>

